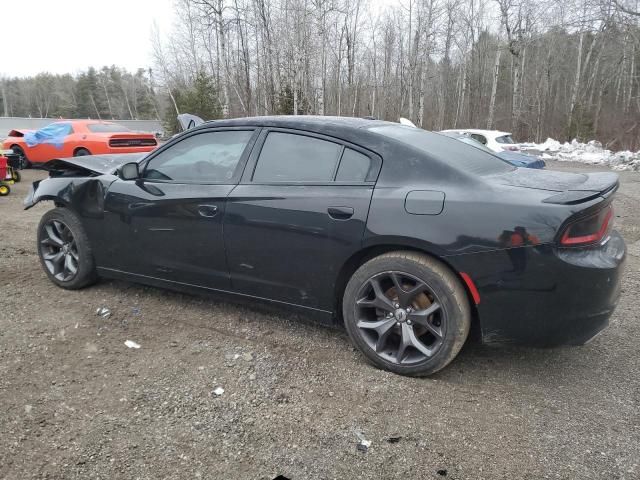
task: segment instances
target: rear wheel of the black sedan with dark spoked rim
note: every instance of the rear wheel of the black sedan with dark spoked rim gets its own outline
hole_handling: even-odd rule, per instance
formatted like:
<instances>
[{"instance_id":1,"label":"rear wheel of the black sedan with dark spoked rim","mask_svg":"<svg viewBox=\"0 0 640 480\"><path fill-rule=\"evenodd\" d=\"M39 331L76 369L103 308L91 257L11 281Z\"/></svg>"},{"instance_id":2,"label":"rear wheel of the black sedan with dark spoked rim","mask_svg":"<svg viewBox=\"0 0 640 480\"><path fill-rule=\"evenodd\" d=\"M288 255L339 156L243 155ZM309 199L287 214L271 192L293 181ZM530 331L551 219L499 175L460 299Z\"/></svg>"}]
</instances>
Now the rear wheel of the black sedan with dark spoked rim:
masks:
<instances>
[{"instance_id":1,"label":"rear wheel of the black sedan with dark spoked rim","mask_svg":"<svg viewBox=\"0 0 640 480\"><path fill-rule=\"evenodd\" d=\"M371 363L408 376L446 367L471 325L457 276L442 262L410 251L363 264L347 283L342 311L351 341Z\"/></svg>"}]
</instances>

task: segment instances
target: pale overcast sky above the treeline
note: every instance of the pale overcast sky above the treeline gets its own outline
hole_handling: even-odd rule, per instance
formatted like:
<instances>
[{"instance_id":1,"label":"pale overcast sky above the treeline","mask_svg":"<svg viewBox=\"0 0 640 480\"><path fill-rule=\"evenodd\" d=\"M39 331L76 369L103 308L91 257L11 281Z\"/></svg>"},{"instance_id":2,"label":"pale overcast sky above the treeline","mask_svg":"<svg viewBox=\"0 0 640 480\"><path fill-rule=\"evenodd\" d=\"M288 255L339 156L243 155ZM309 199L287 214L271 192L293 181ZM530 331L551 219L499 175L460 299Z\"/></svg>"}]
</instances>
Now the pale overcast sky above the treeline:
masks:
<instances>
[{"instance_id":1,"label":"pale overcast sky above the treeline","mask_svg":"<svg viewBox=\"0 0 640 480\"><path fill-rule=\"evenodd\" d=\"M153 66L153 22L165 36L174 17L173 0L2 0L0 4L0 77L43 71L75 74L103 65L130 71L148 68Z\"/></svg>"}]
</instances>

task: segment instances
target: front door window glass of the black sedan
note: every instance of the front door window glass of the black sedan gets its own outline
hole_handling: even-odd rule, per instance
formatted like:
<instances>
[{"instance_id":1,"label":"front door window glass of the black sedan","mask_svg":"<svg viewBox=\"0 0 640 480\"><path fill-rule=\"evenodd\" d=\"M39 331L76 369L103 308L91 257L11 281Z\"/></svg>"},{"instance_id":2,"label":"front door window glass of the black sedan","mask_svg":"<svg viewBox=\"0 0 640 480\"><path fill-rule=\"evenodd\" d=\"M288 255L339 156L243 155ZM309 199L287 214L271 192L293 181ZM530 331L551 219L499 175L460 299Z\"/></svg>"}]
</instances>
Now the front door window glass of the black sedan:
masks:
<instances>
[{"instance_id":1,"label":"front door window glass of the black sedan","mask_svg":"<svg viewBox=\"0 0 640 480\"><path fill-rule=\"evenodd\" d=\"M192 135L151 159L144 178L185 183L228 183L253 131Z\"/></svg>"}]
</instances>

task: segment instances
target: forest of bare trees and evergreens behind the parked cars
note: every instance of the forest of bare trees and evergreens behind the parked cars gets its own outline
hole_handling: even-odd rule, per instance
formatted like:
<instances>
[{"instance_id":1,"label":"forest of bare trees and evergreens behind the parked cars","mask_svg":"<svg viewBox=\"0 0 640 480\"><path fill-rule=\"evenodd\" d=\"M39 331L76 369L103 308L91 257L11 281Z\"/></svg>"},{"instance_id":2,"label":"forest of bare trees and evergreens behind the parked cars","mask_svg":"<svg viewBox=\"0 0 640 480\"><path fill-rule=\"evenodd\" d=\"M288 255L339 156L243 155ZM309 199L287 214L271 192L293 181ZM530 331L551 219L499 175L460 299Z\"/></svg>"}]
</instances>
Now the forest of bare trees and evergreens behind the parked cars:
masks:
<instances>
[{"instance_id":1,"label":"forest of bare trees and evergreens behind the parked cars","mask_svg":"<svg viewBox=\"0 0 640 480\"><path fill-rule=\"evenodd\" d=\"M175 11L171 32L152 33L153 70L5 79L5 114L403 116L640 149L638 0L176 0Z\"/></svg>"}]
</instances>

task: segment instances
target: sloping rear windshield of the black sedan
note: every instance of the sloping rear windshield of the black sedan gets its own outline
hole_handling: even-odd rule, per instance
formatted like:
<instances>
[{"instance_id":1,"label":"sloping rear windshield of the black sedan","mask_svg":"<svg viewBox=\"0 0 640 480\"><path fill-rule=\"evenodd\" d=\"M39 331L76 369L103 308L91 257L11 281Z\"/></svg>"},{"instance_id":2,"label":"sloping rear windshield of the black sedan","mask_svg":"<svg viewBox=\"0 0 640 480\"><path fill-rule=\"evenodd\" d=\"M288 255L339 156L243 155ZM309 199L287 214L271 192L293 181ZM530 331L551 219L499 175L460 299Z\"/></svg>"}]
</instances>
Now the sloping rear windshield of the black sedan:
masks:
<instances>
[{"instance_id":1,"label":"sloping rear windshield of the black sedan","mask_svg":"<svg viewBox=\"0 0 640 480\"><path fill-rule=\"evenodd\" d=\"M500 158L459 140L404 125L373 127L370 131L393 138L455 168L475 174L492 175L509 172L515 167Z\"/></svg>"}]
</instances>

